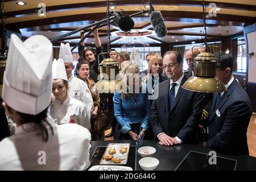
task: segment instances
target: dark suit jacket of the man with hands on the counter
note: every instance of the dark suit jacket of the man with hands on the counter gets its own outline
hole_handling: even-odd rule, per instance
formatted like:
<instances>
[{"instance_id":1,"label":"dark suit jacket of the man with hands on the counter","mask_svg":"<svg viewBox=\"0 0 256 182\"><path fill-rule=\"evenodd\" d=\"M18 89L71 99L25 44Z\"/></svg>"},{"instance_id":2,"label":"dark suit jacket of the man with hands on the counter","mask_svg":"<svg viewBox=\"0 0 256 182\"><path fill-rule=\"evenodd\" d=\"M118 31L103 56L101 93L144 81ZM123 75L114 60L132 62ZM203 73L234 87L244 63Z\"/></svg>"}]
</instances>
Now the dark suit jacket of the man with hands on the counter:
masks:
<instances>
[{"instance_id":1,"label":"dark suit jacket of the man with hands on the counter","mask_svg":"<svg viewBox=\"0 0 256 182\"><path fill-rule=\"evenodd\" d=\"M187 80L184 76L181 85ZM197 143L196 127L202 114L201 93L185 90L181 87L175 97L172 110L169 106L170 80L159 84L159 97L152 102L150 124L156 138L159 133L178 137L184 143Z\"/></svg>"}]
</instances>

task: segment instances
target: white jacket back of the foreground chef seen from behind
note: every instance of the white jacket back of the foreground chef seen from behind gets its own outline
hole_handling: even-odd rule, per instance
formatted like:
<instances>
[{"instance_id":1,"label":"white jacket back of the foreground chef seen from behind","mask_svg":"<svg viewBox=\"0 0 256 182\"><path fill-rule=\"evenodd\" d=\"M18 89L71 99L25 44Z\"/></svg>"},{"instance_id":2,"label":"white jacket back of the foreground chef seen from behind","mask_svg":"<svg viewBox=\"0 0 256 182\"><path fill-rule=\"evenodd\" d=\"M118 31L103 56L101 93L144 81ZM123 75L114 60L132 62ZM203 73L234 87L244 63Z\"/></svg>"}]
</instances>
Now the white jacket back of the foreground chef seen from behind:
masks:
<instances>
[{"instance_id":1,"label":"white jacket back of the foreground chef seen from behind","mask_svg":"<svg viewBox=\"0 0 256 182\"><path fill-rule=\"evenodd\" d=\"M56 125L43 142L35 123L25 123L0 142L0 170L84 170L90 166L90 132L75 124Z\"/></svg>"}]
</instances>

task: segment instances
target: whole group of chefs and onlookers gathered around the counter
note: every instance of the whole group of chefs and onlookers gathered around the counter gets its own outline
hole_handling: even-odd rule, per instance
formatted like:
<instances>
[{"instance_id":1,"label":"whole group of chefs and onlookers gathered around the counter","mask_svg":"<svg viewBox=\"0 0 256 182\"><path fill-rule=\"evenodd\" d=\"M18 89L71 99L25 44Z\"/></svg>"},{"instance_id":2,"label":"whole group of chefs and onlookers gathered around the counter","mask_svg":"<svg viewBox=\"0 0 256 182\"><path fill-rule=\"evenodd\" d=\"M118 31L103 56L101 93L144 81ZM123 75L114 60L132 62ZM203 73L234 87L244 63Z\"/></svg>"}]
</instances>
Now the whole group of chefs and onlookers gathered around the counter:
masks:
<instances>
[{"instance_id":1,"label":"whole group of chefs and onlookers gathered around the counter","mask_svg":"<svg viewBox=\"0 0 256 182\"><path fill-rule=\"evenodd\" d=\"M96 52L81 42L76 68L69 43L61 43L58 59L52 60L52 44L44 36L22 42L11 35L1 118L9 115L16 128L14 135L6 137L10 135L6 132L0 142L0 169L86 169L90 140L104 140L104 130L110 126L114 139L144 137L163 146L201 142L225 154L249 154L246 132L252 109L247 93L232 76L230 55L217 56L216 77L228 91L205 94L181 87L194 75L197 49L185 53L187 72L183 56L176 51L163 57L149 53L148 68L140 72L129 53L110 49L127 90L100 94L91 91L104 59L98 30L93 35ZM22 69L19 75L18 69ZM207 117L202 120L203 113ZM204 138L199 137L201 131Z\"/></svg>"}]
</instances>

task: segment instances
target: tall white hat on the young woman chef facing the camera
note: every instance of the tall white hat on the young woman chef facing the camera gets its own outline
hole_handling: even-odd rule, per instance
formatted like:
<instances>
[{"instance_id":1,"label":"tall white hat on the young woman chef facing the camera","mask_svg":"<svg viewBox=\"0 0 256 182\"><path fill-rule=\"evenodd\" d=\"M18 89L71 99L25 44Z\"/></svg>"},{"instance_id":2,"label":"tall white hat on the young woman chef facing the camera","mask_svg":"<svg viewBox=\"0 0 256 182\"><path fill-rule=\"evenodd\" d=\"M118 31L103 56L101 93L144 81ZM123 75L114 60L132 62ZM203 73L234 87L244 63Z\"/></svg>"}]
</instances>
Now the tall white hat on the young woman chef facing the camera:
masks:
<instances>
[{"instance_id":1,"label":"tall white hat on the young woman chef facing the camera","mask_svg":"<svg viewBox=\"0 0 256 182\"><path fill-rule=\"evenodd\" d=\"M63 79L68 81L63 59L54 59L52 62L52 79Z\"/></svg>"}]
</instances>

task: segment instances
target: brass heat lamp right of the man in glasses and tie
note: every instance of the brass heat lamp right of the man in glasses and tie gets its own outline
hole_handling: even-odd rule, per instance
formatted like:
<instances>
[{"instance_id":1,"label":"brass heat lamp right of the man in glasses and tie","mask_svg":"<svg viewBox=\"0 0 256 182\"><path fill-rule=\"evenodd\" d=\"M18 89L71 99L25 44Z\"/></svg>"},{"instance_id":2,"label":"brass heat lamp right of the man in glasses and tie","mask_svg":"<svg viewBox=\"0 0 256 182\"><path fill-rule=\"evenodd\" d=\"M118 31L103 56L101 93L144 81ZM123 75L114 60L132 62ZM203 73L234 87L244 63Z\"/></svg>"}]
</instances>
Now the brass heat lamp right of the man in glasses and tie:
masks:
<instances>
[{"instance_id":1,"label":"brass heat lamp right of the man in glasses and tie","mask_svg":"<svg viewBox=\"0 0 256 182\"><path fill-rule=\"evenodd\" d=\"M195 75L188 78L182 88L194 92L225 92L227 89L216 76L217 59L209 52L203 52L194 59Z\"/></svg>"}]
</instances>

